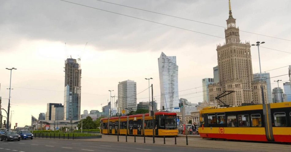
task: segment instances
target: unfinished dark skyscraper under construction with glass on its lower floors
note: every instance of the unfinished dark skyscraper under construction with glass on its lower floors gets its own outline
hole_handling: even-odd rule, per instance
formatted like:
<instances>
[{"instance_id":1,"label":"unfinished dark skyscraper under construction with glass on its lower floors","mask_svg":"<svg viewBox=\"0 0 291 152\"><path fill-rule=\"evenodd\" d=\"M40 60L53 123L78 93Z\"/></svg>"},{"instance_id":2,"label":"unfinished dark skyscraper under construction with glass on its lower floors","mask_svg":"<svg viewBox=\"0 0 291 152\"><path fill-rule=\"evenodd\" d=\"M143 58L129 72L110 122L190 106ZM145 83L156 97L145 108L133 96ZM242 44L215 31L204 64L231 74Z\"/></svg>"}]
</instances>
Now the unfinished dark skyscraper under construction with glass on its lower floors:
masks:
<instances>
[{"instance_id":1,"label":"unfinished dark skyscraper under construction with glass on its lower floors","mask_svg":"<svg viewBox=\"0 0 291 152\"><path fill-rule=\"evenodd\" d=\"M81 112L81 68L76 59L65 61L64 120L79 120Z\"/></svg>"}]
</instances>

